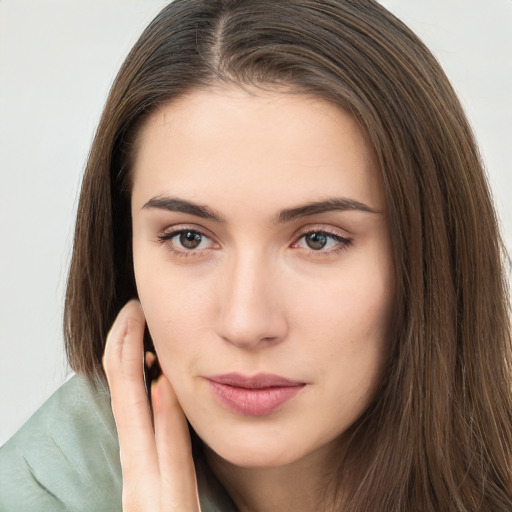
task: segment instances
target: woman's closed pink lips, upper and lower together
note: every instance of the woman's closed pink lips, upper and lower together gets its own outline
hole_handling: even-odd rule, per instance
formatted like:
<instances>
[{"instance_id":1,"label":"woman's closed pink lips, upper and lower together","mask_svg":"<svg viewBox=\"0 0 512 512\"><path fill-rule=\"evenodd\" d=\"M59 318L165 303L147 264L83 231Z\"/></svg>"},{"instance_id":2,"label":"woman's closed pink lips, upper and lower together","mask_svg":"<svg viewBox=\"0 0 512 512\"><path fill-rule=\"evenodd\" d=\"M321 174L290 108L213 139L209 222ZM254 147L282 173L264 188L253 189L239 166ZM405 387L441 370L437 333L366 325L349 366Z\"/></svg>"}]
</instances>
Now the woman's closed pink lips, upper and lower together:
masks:
<instances>
[{"instance_id":1,"label":"woman's closed pink lips, upper and lower together","mask_svg":"<svg viewBox=\"0 0 512 512\"><path fill-rule=\"evenodd\" d=\"M227 373L206 380L221 405L244 416L264 416L277 411L306 385L269 373L251 377Z\"/></svg>"}]
</instances>

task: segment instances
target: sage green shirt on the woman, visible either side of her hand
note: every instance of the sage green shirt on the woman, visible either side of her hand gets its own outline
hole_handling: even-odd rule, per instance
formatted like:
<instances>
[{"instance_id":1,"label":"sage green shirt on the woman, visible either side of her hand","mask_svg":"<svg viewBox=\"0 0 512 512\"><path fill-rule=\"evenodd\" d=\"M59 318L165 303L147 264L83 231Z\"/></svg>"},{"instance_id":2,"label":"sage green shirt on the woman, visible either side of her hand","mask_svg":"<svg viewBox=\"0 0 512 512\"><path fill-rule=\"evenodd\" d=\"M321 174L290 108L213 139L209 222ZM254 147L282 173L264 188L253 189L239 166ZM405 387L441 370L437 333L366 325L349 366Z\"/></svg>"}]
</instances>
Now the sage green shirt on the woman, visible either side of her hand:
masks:
<instances>
[{"instance_id":1,"label":"sage green shirt on the woman, visible either side of her hand","mask_svg":"<svg viewBox=\"0 0 512 512\"><path fill-rule=\"evenodd\" d=\"M235 512L196 460L203 512ZM122 476L108 390L75 375L0 448L1 512L121 512Z\"/></svg>"}]
</instances>

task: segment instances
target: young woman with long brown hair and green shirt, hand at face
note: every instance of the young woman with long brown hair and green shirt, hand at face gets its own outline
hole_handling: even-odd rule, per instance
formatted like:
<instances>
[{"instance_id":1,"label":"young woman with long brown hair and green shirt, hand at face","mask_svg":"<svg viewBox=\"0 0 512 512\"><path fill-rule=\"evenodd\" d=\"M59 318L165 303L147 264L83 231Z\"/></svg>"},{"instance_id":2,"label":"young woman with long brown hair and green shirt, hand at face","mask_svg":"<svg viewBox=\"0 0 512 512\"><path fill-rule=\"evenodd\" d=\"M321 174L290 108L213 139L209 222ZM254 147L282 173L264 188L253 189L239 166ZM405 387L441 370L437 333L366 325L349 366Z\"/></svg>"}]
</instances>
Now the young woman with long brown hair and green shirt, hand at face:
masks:
<instances>
[{"instance_id":1,"label":"young woman with long brown hair and green shirt, hand at face","mask_svg":"<svg viewBox=\"0 0 512 512\"><path fill-rule=\"evenodd\" d=\"M175 0L107 101L78 375L2 449L2 510L511 510L503 258L459 102L379 4Z\"/></svg>"}]
</instances>

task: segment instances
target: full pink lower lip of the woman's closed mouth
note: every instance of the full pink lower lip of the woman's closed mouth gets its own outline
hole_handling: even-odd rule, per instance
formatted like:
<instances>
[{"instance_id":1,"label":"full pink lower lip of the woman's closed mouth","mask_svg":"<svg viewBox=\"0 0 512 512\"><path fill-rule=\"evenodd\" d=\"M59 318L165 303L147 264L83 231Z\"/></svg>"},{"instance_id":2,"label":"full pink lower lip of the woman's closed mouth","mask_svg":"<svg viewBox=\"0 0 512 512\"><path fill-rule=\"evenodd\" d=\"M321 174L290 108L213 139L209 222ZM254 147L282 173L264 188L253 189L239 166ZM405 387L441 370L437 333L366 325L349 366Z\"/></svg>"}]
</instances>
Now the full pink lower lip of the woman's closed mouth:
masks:
<instances>
[{"instance_id":1,"label":"full pink lower lip of the woman's closed mouth","mask_svg":"<svg viewBox=\"0 0 512 512\"><path fill-rule=\"evenodd\" d=\"M305 384L270 388L239 388L208 380L221 405L243 416L265 416L280 409L291 400Z\"/></svg>"}]
</instances>

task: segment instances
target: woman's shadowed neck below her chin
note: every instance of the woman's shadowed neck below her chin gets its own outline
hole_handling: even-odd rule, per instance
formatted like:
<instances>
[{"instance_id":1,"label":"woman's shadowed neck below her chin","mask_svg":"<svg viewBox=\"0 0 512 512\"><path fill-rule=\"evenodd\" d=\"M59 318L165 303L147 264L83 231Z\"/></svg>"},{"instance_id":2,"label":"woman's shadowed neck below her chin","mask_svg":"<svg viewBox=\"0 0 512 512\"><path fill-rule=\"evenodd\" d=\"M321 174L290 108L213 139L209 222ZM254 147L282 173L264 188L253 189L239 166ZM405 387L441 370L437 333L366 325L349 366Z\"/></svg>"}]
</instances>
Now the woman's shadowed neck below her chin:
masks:
<instances>
[{"instance_id":1,"label":"woman's shadowed neck below her chin","mask_svg":"<svg viewBox=\"0 0 512 512\"><path fill-rule=\"evenodd\" d=\"M239 512L334 510L336 475L342 460L334 443L278 467L240 467L205 447L206 458Z\"/></svg>"}]
</instances>

